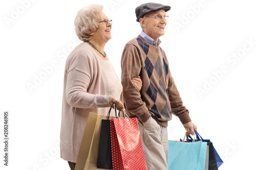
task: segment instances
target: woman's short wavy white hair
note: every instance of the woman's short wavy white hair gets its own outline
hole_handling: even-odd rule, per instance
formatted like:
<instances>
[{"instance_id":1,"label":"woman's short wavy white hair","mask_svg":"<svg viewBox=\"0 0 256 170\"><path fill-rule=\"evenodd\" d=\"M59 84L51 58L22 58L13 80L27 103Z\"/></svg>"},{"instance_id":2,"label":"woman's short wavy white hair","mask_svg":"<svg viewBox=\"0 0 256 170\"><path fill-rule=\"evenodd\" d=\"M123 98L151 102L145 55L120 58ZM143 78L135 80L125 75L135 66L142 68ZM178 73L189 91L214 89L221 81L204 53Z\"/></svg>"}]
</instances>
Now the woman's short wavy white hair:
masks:
<instances>
[{"instance_id":1,"label":"woman's short wavy white hair","mask_svg":"<svg viewBox=\"0 0 256 170\"><path fill-rule=\"evenodd\" d=\"M75 18L76 35L81 41L91 39L90 33L98 28L100 13L103 9L102 5L90 5L80 9Z\"/></svg>"}]
</instances>

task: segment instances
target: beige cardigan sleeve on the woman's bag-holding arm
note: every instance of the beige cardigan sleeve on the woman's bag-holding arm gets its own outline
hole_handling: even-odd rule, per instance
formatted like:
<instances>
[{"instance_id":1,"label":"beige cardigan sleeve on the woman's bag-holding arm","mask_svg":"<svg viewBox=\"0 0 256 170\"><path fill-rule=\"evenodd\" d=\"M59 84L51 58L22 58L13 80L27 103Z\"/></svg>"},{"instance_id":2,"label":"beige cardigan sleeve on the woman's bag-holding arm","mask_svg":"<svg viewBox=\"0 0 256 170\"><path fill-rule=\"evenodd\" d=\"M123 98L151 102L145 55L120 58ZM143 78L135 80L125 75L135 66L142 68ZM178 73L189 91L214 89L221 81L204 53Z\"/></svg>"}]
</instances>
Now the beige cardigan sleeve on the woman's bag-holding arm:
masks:
<instances>
[{"instance_id":1,"label":"beige cardigan sleeve on the woman's bag-holding arm","mask_svg":"<svg viewBox=\"0 0 256 170\"><path fill-rule=\"evenodd\" d=\"M70 61L70 67L67 70L66 100L72 107L110 107L110 95L87 92L87 89L91 85L93 69L95 67L94 63L86 55L77 55ZM103 83L100 86L104 88Z\"/></svg>"}]
</instances>

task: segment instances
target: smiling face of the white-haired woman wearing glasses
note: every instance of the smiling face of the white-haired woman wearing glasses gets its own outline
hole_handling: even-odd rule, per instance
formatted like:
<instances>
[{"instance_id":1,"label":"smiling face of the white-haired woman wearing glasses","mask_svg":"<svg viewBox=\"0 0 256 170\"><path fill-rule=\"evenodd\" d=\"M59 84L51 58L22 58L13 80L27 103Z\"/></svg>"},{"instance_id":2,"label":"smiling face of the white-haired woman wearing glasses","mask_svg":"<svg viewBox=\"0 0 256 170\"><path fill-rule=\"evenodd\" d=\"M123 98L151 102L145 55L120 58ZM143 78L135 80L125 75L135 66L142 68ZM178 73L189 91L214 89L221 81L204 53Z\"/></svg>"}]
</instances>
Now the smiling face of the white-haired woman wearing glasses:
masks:
<instances>
[{"instance_id":1,"label":"smiling face of the white-haired woman wearing glasses","mask_svg":"<svg viewBox=\"0 0 256 170\"><path fill-rule=\"evenodd\" d=\"M103 12L101 12L99 21L102 21L104 19L109 19L109 18ZM98 42L100 41L108 42L111 39L111 28L112 28L112 23L108 22L106 25L104 25L102 22L99 22L99 27L94 32L94 35L92 38Z\"/></svg>"}]
</instances>

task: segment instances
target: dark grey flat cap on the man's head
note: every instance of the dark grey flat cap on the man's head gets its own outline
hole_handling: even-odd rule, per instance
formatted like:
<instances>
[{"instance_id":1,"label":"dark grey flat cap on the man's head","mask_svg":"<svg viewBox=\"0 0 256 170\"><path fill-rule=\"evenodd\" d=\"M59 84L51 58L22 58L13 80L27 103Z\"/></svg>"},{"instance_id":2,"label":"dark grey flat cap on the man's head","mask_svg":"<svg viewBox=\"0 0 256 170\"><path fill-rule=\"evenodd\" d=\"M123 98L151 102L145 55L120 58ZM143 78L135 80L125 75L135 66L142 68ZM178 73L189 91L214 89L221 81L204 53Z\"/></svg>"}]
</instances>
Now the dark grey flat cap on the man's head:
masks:
<instances>
[{"instance_id":1,"label":"dark grey flat cap on the man's head","mask_svg":"<svg viewBox=\"0 0 256 170\"><path fill-rule=\"evenodd\" d=\"M136 17L137 17L137 22L140 21L140 18L145 16L147 13L150 12L156 12L164 10L165 12L170 10L170 6L162 5L162 4L157 4L157 3L146 3L138 6L135 9Z\"/></svg>"}]
</instances>

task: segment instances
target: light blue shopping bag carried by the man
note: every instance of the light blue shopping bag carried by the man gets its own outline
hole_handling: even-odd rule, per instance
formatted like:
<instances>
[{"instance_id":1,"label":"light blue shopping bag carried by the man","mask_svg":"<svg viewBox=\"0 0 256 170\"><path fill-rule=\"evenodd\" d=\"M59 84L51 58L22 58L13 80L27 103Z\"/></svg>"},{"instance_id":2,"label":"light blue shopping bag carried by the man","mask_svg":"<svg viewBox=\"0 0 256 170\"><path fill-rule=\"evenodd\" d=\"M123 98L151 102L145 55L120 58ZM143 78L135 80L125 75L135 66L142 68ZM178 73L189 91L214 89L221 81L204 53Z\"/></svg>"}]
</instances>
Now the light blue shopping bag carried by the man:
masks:
<instances>
[{"instance_id":1,"label":"light blue shopping bag carried by the man","mask_svg":"<svg viewBox=\"0 0 256 170\"><path fill-rule=\"evenodd\" d=\"M183 140L184 141L184 140ZM169 170L202 170L205 168L207 142L168 141Z\"/></svg>"}]
</instances>

